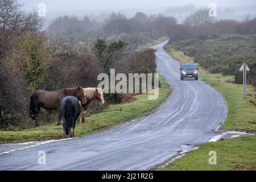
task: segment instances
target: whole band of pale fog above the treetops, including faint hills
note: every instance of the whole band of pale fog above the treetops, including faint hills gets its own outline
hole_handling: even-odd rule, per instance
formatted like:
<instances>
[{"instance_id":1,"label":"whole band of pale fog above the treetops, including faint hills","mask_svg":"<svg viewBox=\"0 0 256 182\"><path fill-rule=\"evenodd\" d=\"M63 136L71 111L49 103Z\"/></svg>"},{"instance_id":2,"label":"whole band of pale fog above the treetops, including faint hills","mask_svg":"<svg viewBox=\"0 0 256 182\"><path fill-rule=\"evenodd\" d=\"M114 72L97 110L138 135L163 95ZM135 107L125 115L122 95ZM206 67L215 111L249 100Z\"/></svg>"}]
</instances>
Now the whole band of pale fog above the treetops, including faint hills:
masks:
<instances>
[{"instance_id":1,"label":"whole band of pale fog above the treetops, including faint hills","mask_svg":"<svg viewBox=\"0 0 256 182\"><path fill-rule=\"evenodd\" d=\"M45 3L47 7L46 19L53 19L63 15L75 15L79 17L88 16L90 19L103 21L112 11L122 13L126 15L127 18L133 16L137 11L142 11L148 15L164 14L174 16L181 22L181 20L183 20L187 14L190 14L191 11L195 11L202 7L208 7L210 3L216 3L218 19L229 18L241 20L247 14L250 14L253 17L256 16L256 2L254 0L19 0L19 2L24 4L24 9L26 10L36 9L39 3Z\"/></svg>"}]
</instances>

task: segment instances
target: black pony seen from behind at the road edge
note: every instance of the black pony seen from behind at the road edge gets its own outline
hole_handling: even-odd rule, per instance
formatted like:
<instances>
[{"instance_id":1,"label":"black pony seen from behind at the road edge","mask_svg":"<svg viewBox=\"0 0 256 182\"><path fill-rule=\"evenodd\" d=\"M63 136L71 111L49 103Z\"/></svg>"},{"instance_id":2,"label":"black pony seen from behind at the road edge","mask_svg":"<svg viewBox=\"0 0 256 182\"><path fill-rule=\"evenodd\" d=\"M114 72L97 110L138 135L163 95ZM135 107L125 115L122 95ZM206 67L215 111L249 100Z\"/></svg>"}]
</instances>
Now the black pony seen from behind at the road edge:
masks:
<instances>
[{"instance_id":1,"label":"black pony seen from behind at the road edge","mask_svg":"<svg viewBox=\"0 0 256 182\"><path fill-rule=\"evenodd\" d=\"M63 123L63 138L65 135L75 137L76 121L81 114L81 106L76 97L64 97L60 107L61 121Z\"/></svg>"}]
</instances>

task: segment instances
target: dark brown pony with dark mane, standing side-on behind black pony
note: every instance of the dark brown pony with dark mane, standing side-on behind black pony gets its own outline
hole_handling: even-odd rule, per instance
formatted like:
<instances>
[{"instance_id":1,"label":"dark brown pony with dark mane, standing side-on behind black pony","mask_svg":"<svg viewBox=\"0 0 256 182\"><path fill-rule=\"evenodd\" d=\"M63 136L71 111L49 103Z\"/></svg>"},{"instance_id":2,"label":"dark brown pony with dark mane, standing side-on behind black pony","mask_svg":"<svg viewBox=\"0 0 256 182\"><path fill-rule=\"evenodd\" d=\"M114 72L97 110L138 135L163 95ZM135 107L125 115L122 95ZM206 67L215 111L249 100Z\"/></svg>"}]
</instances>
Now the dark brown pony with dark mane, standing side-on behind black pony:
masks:
<instances>
[{"instance_id":1,"label":"dark brown pony with dark mane, standing side-on behind black pony","mask_svg":"<svg viewBox=\"0 0 256 182\"><path fill-rule=\"evenodd\" d=\"M77 86L77 88L61 89L55 92L47 92L44 90L38 90L34 92L30 97L30 117L35 120L36 126L39 125L38 119L36 119L36 117L38 117L41 107L46 110L58 110L58 125L60 125L61 100L67 96L76 97L82 104L86 102L84 90L80 86Z\"/></svg>"}]
</instances>

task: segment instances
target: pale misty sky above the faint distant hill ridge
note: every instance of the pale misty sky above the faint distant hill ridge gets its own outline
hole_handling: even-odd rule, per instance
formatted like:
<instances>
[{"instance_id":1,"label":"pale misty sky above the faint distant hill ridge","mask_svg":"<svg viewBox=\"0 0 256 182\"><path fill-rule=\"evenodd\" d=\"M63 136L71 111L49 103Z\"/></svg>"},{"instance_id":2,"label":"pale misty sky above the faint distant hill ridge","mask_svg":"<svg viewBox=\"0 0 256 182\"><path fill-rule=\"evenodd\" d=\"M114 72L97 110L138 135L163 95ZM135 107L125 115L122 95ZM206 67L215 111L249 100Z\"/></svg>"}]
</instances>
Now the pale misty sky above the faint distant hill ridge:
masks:
<instances>
[{"instance_id":1,"label":"pale misty sky above the faint distant hill ridge","mask_svg":"<svg viewBox=\"0 0 256 182\"><path fill-rule=\"evenodd\" d=\"M43 2L47 5L48 11L76 11L76 10L116 10L116 9L152 9L171 6L184 6L194 4L207 7L209 3L216 3L217 6L243 6L256 5L255 0L18 0L24 3L28 10L37 7Z\"/></svg>"}]
</instances>

